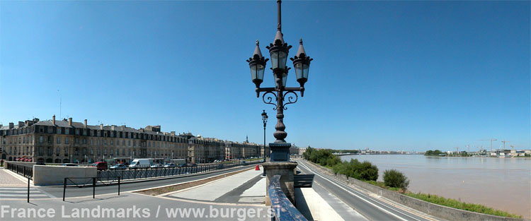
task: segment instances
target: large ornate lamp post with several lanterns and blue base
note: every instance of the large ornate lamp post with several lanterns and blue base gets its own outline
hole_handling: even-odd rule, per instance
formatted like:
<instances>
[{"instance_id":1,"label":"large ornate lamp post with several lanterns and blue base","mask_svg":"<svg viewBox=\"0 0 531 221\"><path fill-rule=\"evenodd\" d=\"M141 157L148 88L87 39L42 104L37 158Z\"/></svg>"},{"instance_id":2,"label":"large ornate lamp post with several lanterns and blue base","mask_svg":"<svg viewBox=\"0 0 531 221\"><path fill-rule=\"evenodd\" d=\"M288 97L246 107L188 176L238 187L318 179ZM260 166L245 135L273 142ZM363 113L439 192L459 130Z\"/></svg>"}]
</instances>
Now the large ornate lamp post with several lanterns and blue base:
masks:
<instances>
[{"instance_id":1,"label":"large ornate lamp post with several lanterns and blue base","mask_svg":"<svg viewBox=\"0 0 531 221\"><path fill-rule=\"evenodd\" d=\"M308 80L309 64L311 59L304 52L304 47L302 47L302 39L299 42L299 49L297 55L291 60L293 61L293 66L295 67L295 75L297 76L297 82L299 82L299 88L287 88L287 72L290 70L286 66L287 54L289 54L291 45L288 45L282 35L282 25L281 25L281 8L280 4L282 1L277 1L278 7L278 26L277 33L275 35L275 40L273 43L269 44L267 49L269 49L269 54L271 57L271 69L273 70L273 77L275 79L275 88L260 88L260 84L263 82L263 73L265 70L265 64L268 59L265 59L262 56L260 51L260 46L258 40L256 40L256 47L254 49L253 56L247 60L249 62L249 68L251 69L251 80L256 85L256 97L260 97L260 92L264 92L262 95L262 100L265 104L273 104L277 111L277 124L275 126L275 136L276 140L274 143L270 143L269 147L271 150L271 161L289 161L290 160L290 143L285 141L287 133L284 131L286 126L284 125L284 110L287 110L285 107L287 104L293 104L297 102L298 95L297 91L300 92L301 97L304 97L304 83ZM276 92L276 94L275 94ZM276 101L273 102L273 97ZM287 101L285 98L287 97ZM267 100L267 101L266 101ZM264 123L265 126L265 123Z\"/></svg>"}]
</instances>

